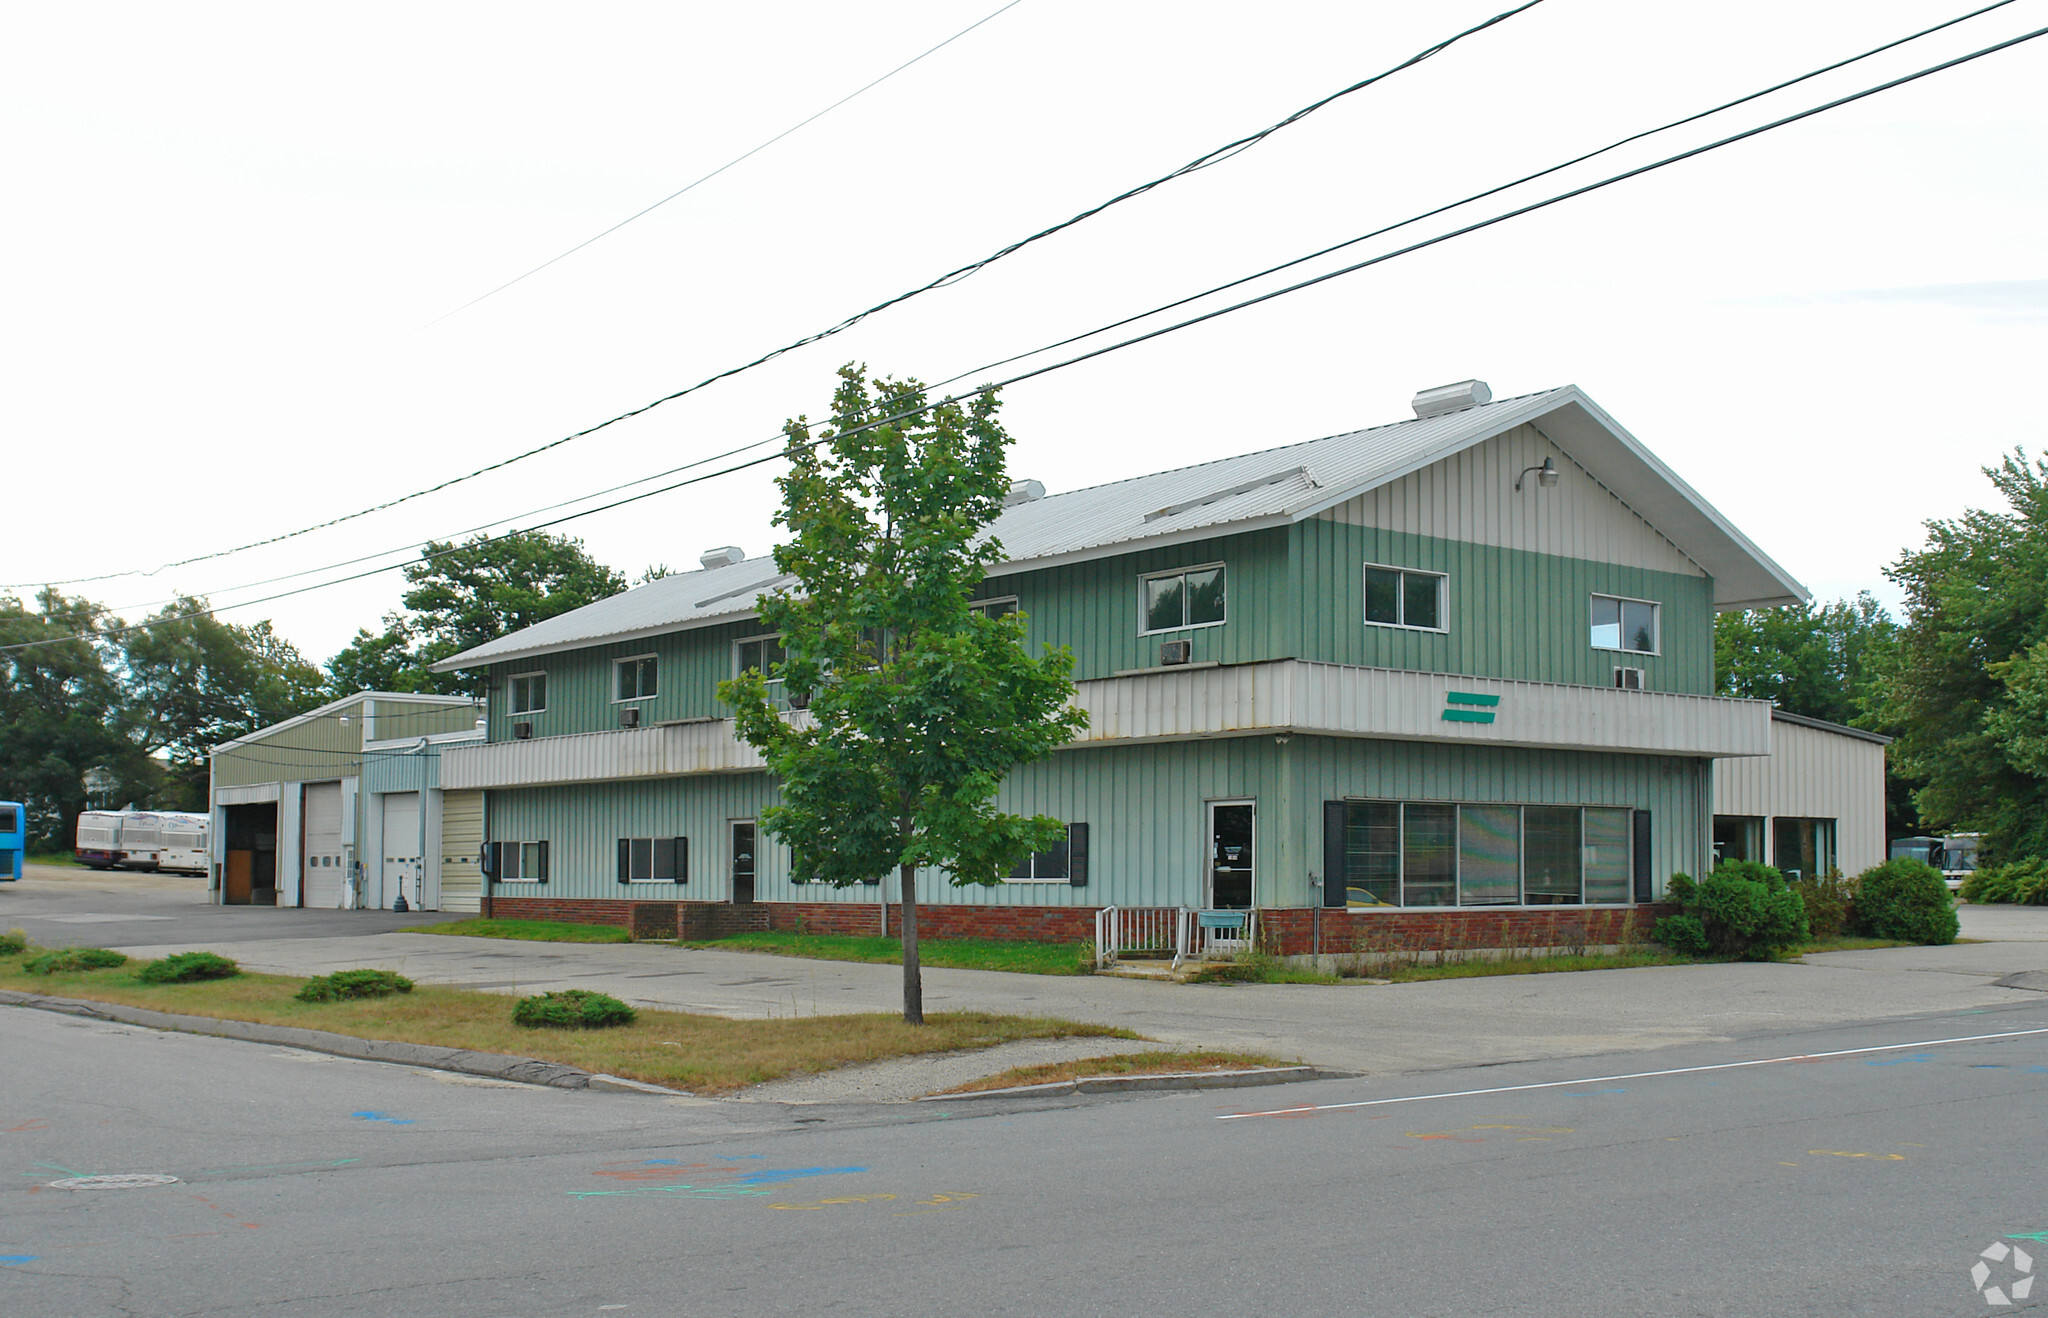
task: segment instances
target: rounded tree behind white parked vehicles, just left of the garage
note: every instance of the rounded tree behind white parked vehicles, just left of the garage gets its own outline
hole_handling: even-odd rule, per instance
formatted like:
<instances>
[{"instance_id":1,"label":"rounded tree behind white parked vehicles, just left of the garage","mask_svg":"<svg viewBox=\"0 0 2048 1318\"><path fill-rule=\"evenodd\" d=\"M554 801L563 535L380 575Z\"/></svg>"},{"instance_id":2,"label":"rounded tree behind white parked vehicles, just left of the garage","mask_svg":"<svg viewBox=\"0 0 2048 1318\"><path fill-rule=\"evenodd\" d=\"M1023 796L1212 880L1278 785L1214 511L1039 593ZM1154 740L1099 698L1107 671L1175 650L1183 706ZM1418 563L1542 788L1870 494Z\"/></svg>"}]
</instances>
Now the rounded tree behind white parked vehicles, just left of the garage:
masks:
<instances>
[{"instance_id":1,"label":"rounded tree behind white parked vehicles, just left of the garage","mask_svg":"<svg viewBox=\"0 0 2048 1318\"><path fill-rule=\"evenodd\" d=\"M158 804L207 808L215 745L303 714L326 698L324 679L270 622L240 626L180 598L123 639L133 739L170 763Z\"/></svg>"}]
</instances>

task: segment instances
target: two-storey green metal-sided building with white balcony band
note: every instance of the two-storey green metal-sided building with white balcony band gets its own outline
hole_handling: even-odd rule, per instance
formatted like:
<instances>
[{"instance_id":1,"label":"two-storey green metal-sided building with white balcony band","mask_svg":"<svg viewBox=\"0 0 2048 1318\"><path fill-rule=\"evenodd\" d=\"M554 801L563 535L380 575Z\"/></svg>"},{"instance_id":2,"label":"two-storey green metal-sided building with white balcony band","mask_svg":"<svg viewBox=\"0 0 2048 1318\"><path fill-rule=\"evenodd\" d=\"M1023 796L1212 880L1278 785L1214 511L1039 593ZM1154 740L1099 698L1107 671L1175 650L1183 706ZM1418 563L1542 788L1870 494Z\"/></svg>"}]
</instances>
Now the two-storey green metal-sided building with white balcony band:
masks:
<instances>
[{"instance_id":1,"label":"two-storey green metal-sided building with white balcony band","mask_svg":"<svg viewBox=\"0 0 2048 1318\"><path fill-rule=\"evenodd\" d=\"M1769 706L1712 694L1714 612L1806 591L1575 387L1415 413L1016 485L983 606L1073 649L1090 731L1004 790L1069 847L924 876L940 933L1081 937L1102 907L1255 907L1286 950L1599 933L1710 864L1712 763L1772 749ZM440 784L485 794L498 913L891 927L883 884L805 884L756 831L774 784L715 688L776 657L754 602L782 581L713 551L442 665L489 673Z\"/></svg>"}]
</instances>

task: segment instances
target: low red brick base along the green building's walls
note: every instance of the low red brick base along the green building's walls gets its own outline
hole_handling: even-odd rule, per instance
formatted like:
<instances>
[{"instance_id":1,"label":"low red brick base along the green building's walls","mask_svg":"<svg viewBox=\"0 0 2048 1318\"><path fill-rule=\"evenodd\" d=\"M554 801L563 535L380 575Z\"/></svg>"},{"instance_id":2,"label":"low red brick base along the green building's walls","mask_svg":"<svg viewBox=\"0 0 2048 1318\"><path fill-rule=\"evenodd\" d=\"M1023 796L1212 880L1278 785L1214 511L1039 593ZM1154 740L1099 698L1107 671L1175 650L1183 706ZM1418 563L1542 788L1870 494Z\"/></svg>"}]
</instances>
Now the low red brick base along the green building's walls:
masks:
<instances>
[{"instance_id":1,"label":"low red brick base along the green building's walls","mask_svg":"<svg viewBox=\"0 0 2048 1318\"><path fill-rule=\"evenodd\" d=\"M1657 917L1675 907L1550 907L1534 911L1337 911L1280 907L1260 911L1260 943L1274 956L1479 952L1493 948L1585 948L1649 937ZM641 939L713 939L762 929L788 933L903 933L903 907L891 903L637 903L608 898L494 896L500 919L551 919L614 925ZM922 937L993 937L1032 943L1085 943L1096 937L1094 907L918 907Z\"/></svg>"}]
</instances>

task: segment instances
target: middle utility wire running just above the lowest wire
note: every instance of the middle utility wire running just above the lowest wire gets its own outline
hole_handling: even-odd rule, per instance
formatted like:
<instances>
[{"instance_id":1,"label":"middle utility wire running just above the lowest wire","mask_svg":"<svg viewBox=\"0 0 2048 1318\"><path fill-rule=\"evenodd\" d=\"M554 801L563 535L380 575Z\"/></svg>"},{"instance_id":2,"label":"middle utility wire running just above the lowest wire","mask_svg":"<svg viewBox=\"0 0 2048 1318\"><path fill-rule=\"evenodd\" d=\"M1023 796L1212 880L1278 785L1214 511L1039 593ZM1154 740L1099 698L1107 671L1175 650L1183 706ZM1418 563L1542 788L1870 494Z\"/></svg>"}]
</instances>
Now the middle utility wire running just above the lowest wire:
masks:
<instances>
[{"instance_id":1,"label":"middle utility wire running just above the lowest wire","mask_svg":"<svg viewBox=\"0 0 2048 1318\"><path fill-rule=\"evenodd\" d=\"M1055 340L1051 344L1040 344L1038 348L1030 348L1026 352L1016 352L1012 356L997 358L993 362L983 362L981 366L975 366L973 370L963 370L963 372L952 375L948 379L936 381L934 385L930 385L930 389L944 389L946 385L956 385L958 381L965 381L965 379L971 379L971 377L979 377L985 370L995 370L997 366L1008 366L1012 362L1022 362L1026 358L1040 356L1044 352L1053 352L1055 348L1067 348L1071 344L1079 344L1081 340L1096 338L1098 334L1108 334L1110 330L1122 330L1124 325L1133 325L1133 323L1149 319L1153 315L1161 315L1165 311L1174 311L1178 307L1186 307L1190 303L1198 303L1198 301L1202 301L1206 297L1214 297L1217 293L1227 293L1231 289L1249 284L1249 282L1266 278L1270 274L1278 274L1282 270L1292 270L1294 266L1303 266L1303 264L1311 262L1311 260L1317 260L1321 256L1329 256L1333 252L1341 252L1346 248L1354 248L1354 246L1358 246L1362 241L1368 241L1368 239L1374 239L1374 237L1384 237L1386 233L1393 233L1395 229L1405 229L1405 227L1421 223L1425 219L1434 219L1438 215L1444 215L1446 211L1456 211L1456 209L1466 207L1470 203L1485 201L1487 196L1495 196L1499 192L1507 192L1511 188L1518 188L1518 186L1522 186L1526 182L1534 182L1538 178L1546 178L1546 176L1556 174L1561 170L1569 170L1571 166L1577 166L1577 164L1585 164L1587 160L1593 160L1595 156L1606 156L1608 151L1616 151L1616 149L1620 149L1624 145L1630 145L1634 141L1642 141L1645 137L1655 137L1657 133L1667 133L1667 131L1683 127L1688 123L1696 123L1700 119L1708 119L1712 115L1720 115L1720 113L1731 111L1731 108L1735 108L1739 104L1747 104L1747 102L1757 100L1761 96L1769 96L1774 92L1782 92L1782 90L1786 90L1790 86L1796 86L1800 82L1810 82L1812 78L1821 78L1823 74L1833 74L1835 70L1847 68L1847 65L1858 63L1862 59L1870 59L1872 55L1882 55L1884 51L1890 51L1890 49L1896 49L1901 45L1907 45L1909 41L1919 41L1921 37L1929 37L1933 33L1939 33L1944 29L1956 27L1958 23L1966 23L1970 18L1978 18L1982 14L1989 14L1991 10L2005 8L2007 4L2013 4L2013 2L2015 0L1995 0L1993 4L1987 4L1982 8L1970 10L1968 14L1958 14L1956 18L1948 18L1944 23L1935 23L1933 27L1925 27L1925 29L1921 29L1917 33L1907 35L1907 37L1898 37L1894 41L1886 41L1884 45L1874 45L1868 51L1862 51L1858 55L1849 55L1847 59L1837 59L1835 63L1821 65L1821 68L1810 70L1806 74L1800 74L1796 78L1788 78L1784 82L1776 82L1776 84L1772 84L1767 88L1761 88L1757 92L1749 92L1747 96L1737 96L1735 100L1724 100L1724 102L1720 102L1720 104L1716 104L1712 108L1698 111L1696 115L1686 115L1683 119L1673 119L1673 121L1669 121L1665 125L1659 125L1655 129L1645 129L1640 133L1630 133L1628 137L1622 137L1618 141L1610 141L1608 145L1595 147L1591 151L1585 151L1583 156L1575 156L1571 160L1565 160L1561 164L1548 166L1544 170L1536 170L1534 174L1524 174L1522 178L1497 184L1497 186L1487 188L1483 192L1473 192L1470 196L1446 203L1442 207L1436 207L1432 211L1423 211L1419 215L1411 215L1407 219L1401 219L1397 223L1384 225L1380 229L1372 229L1370 233L1360 233L1358 237L1348 237L1348 239L1343 239L1339 244L1333 244L1329 248L1321 248L1319 252L1309 252L1307 256L1296 256L1296 258L1286 260L1286 262L1282 262L1278 266L1268 266L1268 268L1257 270L1253 274L1245 274L1243 278L1235 278L1231 282L1217 284L1217 287L1204 289L1200 293L1192 293L1192 295L1176 299L1171 303L1163 303L1159 307L1151 307L1149 311L1139 311L1137 315L1126 315L1122 319L1110 321L1106 325L1096 325L1094 330L1085 330L1081 334L1073 334L1073 336L1067 336L1063 340ZM543 506L543 508L532 508L532 510L522 512L522 514L512 514L512 516L506 516L506 518L494 518L489 522L483 522L479 526L471 526L467 530L459 530L459 532L453 532L453 534L455 536L467 536L467 534L473 534L477 530L485 530L489 526L502 526L506 522L518 522L518 520L524 520L524 518L530 518L530 516L539 516L543 512L555 512L557 508L567 508L567 506L580 503L584 499L596 499L596 497L602 497L602 495L608 495L608 493L616 493L621 489L631 489L633 485L643 485L647 481L657 481L662 477L676 475L680 471L688 471L692 467L702 467L705 463L717 463L717 460L723 460L727 456L737 456L739 452L745 452L750 448L760 448L764 444L774 444L778 438L780 436L776 434L776 436L770 436L766 440L756 440L754 444L741 444L739 448L727 448L725 452L711 454L709 458L698 458L696 463L684 463L682 467L672 467L668 471L657 471L653 475L645 475L645 477L639 477L635 481L625 481L625 483L612 485L608 489L598 489L598 491L592 491L588 495L578 495L575 499L563 499L559 503L549 503L549 506ZM453 536L434 536L434 538L436 540L449 540ZM393 553L406 553L406 551L414 551L414 548L424 548L428 542L430 540L418 540L418 542L401 544L401 546L377 553L377 555L365 555L360 559L344 559L340 563L326 563L322 567L309 567L305 571L287 573L283 577L266 577L262 581L244 581L242 585L225 585L225 587L219 587L217 591L205 591L205 596L213 596L213 594L221 594L221 591L254 589L258 585L274 585L276 581L293 581L297 577L309 577L313 573L334 571L338 567L354 567L356 563L369 563L373 559L381 559L381 557L387 557L387 555L393 555ZM178 596L178 598L184 598L184 596ZM111 612L123 614L123 612L135 610L135 608L160 608L164 604L174 604L178 598L154 600L154 602L147 602L147 604L129 604L129 606L123 606L123 608L115 608ZM231 606L223 606L223 608L231 608Z\"/></svg>"}]
</instances>

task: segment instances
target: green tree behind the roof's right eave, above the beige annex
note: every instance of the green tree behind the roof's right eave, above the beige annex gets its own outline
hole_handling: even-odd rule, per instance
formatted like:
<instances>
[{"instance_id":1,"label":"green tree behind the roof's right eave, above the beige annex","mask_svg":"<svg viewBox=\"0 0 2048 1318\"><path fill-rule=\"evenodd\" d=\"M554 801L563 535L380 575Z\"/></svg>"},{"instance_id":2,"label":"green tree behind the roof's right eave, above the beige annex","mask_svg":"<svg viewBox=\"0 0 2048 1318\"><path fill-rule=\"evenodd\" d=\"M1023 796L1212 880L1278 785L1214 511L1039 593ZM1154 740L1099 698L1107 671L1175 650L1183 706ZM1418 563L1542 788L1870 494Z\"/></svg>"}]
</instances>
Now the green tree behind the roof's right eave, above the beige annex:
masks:
<instances>
[{"instance_id":1,"label":"green tree behind the roof's right eave, above the beige annex","mask_svg":"<svg viewBox=\"0 0 2048 1318\"><path fill-rule=\"evenodd\" d=\"M1769 700L1782 710L1872 733L1884 724L1886 675L1898 661L1898 624L1870 591L1833 604L1792 604L1714 618L1714 682L1722 696ZM1884 825L1917 833L1919 780L1884 761Z\"/></svg>"}]
</instances>

